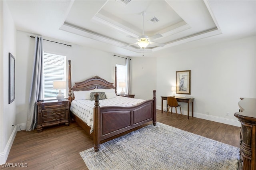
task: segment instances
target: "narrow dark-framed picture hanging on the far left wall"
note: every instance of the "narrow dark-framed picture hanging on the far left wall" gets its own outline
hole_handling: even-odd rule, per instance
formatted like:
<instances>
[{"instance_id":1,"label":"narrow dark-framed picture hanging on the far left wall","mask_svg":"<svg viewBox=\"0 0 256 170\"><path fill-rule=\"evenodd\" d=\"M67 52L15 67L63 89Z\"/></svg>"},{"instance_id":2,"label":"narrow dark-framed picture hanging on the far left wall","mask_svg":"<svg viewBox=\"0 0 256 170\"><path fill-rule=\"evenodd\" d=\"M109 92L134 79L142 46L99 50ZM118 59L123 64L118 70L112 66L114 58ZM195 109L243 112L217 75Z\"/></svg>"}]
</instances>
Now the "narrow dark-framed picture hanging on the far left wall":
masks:
<instances>
[{"instance_id":1,"label":"narrow dark-framed picture hanging on the far left wall","mask_svg":"<svg viewBox=\"0 0 256 170\"><path fill-rule=\"evenodd\" d=\"M15 99L15 58L9 53L9 104Z\"/></svg>"}]
</instances>

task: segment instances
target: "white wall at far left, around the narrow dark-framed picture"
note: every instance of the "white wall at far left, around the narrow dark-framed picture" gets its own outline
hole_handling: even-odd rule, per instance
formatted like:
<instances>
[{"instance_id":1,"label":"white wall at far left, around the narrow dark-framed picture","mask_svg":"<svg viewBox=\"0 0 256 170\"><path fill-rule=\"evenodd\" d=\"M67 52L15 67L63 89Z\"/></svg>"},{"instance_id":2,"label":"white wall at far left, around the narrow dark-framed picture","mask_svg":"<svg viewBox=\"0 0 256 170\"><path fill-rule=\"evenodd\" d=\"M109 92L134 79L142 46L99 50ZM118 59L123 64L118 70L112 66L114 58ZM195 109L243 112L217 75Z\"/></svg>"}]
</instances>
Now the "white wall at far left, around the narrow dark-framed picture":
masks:
<instances>
[{"instance_id":1,"label":"white wall at far left, around the narrow dark-framed picture","mask_svg":"<svg viewBox=\"0 0 256 170\"><path fill-rule=\"evenodd\" d=\"M16 28L6 1L0 1L0 164L5 163L16 135L16 99L9 104L9 52L16 57Z\"/></svg>"}]
</instances>

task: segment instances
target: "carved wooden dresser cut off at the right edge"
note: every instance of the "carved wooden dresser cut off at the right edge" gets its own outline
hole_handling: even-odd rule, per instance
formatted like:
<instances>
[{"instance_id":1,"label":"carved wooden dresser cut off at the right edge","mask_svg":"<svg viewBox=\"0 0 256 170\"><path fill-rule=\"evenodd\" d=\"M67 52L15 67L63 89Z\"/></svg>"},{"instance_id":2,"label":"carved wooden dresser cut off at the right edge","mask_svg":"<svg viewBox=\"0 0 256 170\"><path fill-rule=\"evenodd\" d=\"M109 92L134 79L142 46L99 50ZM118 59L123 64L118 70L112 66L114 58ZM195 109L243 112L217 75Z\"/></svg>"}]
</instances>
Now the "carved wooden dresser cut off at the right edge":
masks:
<instances>
[{"instance_id":1,"label":"carved wooden dresser cut off at the right edge","mask_svg":"<svg viewBox=\"0 0 256 170\"><path fill-rule=\"evenodd\" d=\"M256 99L240 98L240 112L235 113L241 123L240 161L238 170L256 169Z\"/></svg>"}]
</instances>

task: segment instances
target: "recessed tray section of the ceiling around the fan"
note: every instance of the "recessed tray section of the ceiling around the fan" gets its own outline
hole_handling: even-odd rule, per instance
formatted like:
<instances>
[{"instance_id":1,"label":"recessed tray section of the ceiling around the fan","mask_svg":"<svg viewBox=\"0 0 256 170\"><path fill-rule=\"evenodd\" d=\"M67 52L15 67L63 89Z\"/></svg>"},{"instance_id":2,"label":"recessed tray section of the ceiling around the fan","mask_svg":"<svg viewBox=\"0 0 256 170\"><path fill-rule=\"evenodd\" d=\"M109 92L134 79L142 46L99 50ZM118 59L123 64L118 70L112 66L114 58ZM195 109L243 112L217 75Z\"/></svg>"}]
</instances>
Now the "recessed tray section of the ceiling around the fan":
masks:
<instances>
[{"instance_id":1,"label":"recessed tray section of the ceiling around the fan","mask_svg":"<svg viewBox=\"0 0 256 170\"><path fill-rule=\"evenodd\" d=\"M94 6L94 8L90 8ZM84 8L86 7L86 8ZM75 1L60 27L61 30L110 43L131 51L141 51L135 44L143 35L148 37L161 34L154 42L164 43L164 47L148 45L147 51L159 50L197 38L220 34L220 29L211 15L207 1L142 1L131 0L125 6L114 0ZM191 15L193 14L193 15ZM157 21L157 22L152 22Z\"/></svg>"}]
</instances>

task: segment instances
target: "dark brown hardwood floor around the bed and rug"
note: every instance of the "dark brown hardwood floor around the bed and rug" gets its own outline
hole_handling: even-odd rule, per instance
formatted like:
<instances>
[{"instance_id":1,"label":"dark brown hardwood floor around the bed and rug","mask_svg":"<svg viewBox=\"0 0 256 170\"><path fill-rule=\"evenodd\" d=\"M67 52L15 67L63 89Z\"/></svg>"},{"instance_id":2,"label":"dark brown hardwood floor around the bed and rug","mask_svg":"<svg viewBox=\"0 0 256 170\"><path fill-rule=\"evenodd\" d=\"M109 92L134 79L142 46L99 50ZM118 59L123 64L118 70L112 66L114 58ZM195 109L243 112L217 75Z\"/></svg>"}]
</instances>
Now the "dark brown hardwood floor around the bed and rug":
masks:
<instances>
[{"instance_id":1,"label":"dark brown hardwood floor around the bed and rug","mask_svg":"<svg viewBox=\"0 0 256 170\"><path fill-rule=\"evenodd\" d=\"M188 120L186 115L176 118L176 113L166 115L166 112L161 114L160 110L157 110L157 121L239 147L240 127L194 117ZM27 165L25 169L33 170L84 170L88 168L79 152L91 147L93 139L75 122L70 126L44 128L40 133L37 130L18 131L6 163L23 163Z\"/></svg>"}]
</instances>

